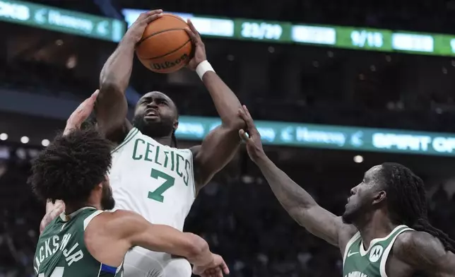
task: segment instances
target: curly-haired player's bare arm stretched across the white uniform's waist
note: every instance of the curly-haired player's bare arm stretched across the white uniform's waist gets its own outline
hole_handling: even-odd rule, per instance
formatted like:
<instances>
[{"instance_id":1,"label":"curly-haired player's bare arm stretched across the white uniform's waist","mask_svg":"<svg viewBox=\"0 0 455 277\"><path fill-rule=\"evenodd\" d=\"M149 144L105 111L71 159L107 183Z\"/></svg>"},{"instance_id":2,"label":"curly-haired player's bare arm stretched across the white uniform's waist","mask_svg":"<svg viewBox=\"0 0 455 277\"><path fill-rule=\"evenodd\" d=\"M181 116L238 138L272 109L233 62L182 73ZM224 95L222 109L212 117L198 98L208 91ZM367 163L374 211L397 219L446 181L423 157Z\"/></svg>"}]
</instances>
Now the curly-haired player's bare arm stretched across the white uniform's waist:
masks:
<instances>
[{"instance_id":1,"label":"curly-haired player's bare arm stretched across the white uniform's waist","mask_svg":"<svg viewBox=\"0 0 455 277\"><path fill-rule=\"evenodd\" d=\"M100 229L102 229L101 232ZM181 232L167 225L151 224L138 213L131 211L102 213L93 219L85 232L88 232L86 236L95 233L98 235L92 240L94 244L90 243L89 250L91 249L90 253L98 255L94 257L101 262L107 261L104 260L106 256L112 258L112 255L108 254L115 251L119 252L118 257L123 259L122 253L124 254L131 247L139 246L155 252L184 257L194 264L194 273L201 276L213 272L213 276L222 277L222 272L229 273L225 261L219 255L213 254L207 242L201 237L189 232ZM117 247L122 249L108 249L109 246L100 240L117 243ZM90 238L85 237L85 241L90 241ZM93 246L98 249L94 249ZM122 259L107 262L119 264Z\"/></svg>"}]
</instances>

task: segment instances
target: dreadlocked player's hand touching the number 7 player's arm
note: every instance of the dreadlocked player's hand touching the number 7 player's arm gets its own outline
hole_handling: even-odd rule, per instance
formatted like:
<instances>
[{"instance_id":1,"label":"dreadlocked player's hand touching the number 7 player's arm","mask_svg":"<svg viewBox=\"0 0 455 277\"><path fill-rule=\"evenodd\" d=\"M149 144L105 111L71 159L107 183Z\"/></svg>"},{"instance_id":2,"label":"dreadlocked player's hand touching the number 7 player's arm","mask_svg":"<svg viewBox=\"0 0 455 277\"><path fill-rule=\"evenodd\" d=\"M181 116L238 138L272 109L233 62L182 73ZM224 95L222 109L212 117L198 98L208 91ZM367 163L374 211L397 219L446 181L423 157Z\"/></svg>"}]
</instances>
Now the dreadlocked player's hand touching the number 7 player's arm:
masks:
<instances>
[{"instance_id":1,"label":"dreadlocked player's hand touching the number 7 player's arm","mask_svg":"<svg viewBox=\"0 0 455 277\"><path fill-rule=\"evenodd\" d=\"M256 129L256 125L254 124L252 115L249 114L247 106L243 105L242 108L239 109L239 115L247 124L247 131L240 129L239 136L242 141L247 144L249 158L251 158L253 162L256 162L257 158L261 157L261 155L266 155L262 148L261 134L259 134L259 131Z\"/></svg>"}]
</instances>

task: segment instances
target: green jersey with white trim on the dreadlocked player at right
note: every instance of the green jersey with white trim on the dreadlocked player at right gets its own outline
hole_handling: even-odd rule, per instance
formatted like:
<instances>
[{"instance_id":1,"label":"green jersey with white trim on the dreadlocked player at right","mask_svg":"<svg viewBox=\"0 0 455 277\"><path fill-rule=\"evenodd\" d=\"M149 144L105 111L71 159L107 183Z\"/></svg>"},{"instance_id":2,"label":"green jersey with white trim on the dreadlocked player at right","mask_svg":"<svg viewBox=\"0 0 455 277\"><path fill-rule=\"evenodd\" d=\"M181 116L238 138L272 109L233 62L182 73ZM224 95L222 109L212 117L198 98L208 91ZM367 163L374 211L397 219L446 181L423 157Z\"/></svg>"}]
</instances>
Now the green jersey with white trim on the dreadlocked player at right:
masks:
<instances>
[{"instance_id":1,"label":"green jersey with white trim on the dreadlocked player at right","mask_svg":"<svg viewBox=\"0 0 455 277\"><path fill-rule=\"evenodd\" d=\"M394 246L396 237L402 232L413 230L406 225L399 225L390 234L370 242L367 250L363 247L360 232L357 232L346 245L343 256L344 277L388 277L386 261Z\"/></svg>"}]
</instances>

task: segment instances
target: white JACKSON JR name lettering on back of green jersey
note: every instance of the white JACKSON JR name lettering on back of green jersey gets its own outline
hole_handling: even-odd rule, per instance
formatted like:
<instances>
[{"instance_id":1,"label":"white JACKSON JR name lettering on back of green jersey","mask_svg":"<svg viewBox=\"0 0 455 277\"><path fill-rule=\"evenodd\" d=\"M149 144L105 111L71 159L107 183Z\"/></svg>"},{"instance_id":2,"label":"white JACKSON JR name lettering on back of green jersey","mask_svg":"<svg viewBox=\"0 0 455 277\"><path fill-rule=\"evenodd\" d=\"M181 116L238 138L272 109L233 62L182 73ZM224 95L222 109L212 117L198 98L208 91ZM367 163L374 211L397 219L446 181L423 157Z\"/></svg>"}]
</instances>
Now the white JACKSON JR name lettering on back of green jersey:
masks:
<instances>
[{"instance_id":1,"label":"white JACKSON JR name lettering on back of green jersey","mask_svg":"<svg viewBox=\"0 0 455 277\"><path fill-rule=\"evenodd\" d=\"M40 246L40 250L37 252L37 256L35 257L35 271L38 272L40 269L40 264L42 264L42 262L49 257L52 257L55 253L57 253L57 251L63 252L64 257L66 257L66 263L68 266L71 266L71 264L74 262L81 260L84 255L82 250L78 249L78 242L76 242L76 244L73 244L70 249L66 247L70 238L71 234L65 234L61 240L57 235L49 237L47 240L45 240L45 245ZM52 249L51 242L53 247Z\"/></svg>"}]
</instances>

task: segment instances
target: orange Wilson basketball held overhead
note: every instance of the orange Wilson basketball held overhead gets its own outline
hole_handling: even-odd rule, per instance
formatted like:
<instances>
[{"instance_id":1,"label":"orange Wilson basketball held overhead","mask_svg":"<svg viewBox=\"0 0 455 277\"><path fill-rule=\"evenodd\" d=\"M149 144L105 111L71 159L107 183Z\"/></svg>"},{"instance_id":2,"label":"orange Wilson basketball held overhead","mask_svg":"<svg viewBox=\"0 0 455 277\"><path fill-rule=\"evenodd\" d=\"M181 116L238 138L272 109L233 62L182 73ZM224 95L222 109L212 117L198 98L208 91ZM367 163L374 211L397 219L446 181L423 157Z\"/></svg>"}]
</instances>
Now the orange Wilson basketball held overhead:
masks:
<instances>
[{"instance_id":1,"label":"orange Wilson basketball held overhead","mask_svg":"<svg viewBox=\"0 0 455 277\"><path fill-rule=\"evenodd\" d=\"M136 45L139 61L157 73L182 69L188 64L193 49L185 28L189 28L188 24L170 13L164 13L161 18L148 24Z\"/></svg>"}]
</instances>

